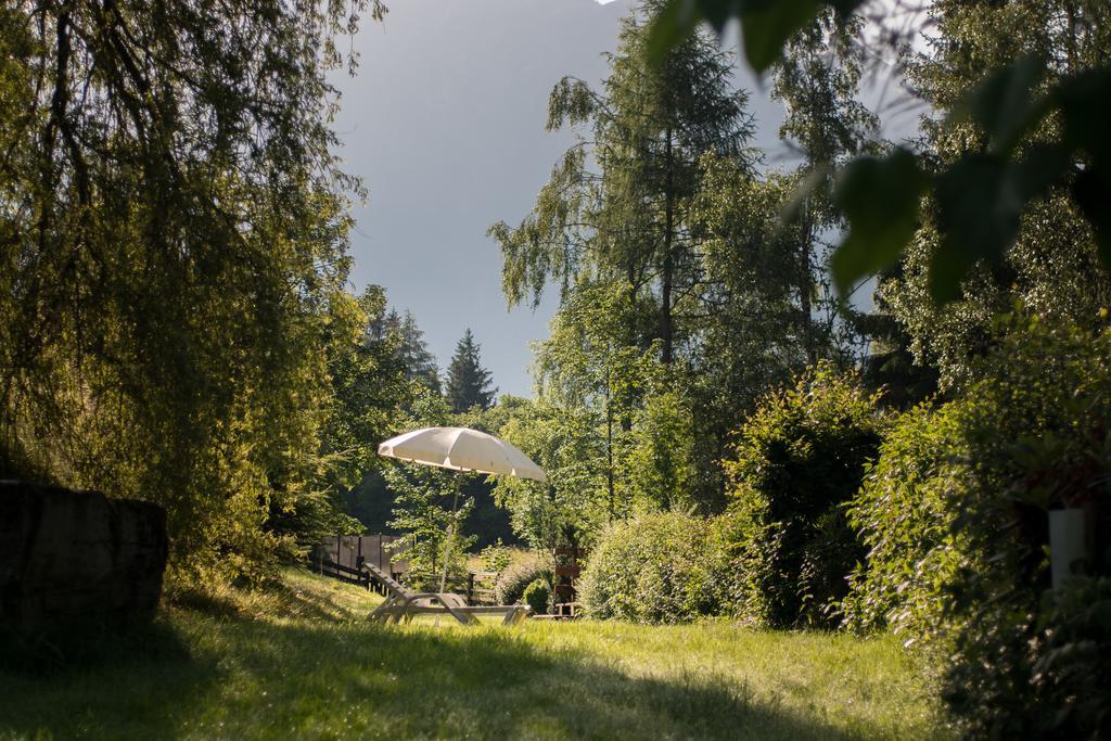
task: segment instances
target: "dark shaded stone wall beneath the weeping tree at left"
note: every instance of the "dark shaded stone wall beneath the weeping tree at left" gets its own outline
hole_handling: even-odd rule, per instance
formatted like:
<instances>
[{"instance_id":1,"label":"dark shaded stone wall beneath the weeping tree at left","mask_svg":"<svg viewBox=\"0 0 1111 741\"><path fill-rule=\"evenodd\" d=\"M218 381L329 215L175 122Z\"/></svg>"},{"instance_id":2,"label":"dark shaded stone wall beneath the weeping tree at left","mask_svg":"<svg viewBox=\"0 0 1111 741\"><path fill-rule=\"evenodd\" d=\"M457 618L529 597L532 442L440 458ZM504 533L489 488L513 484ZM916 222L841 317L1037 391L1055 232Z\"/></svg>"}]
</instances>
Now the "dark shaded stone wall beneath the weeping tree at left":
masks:
<instances>
[{"instance_id":1,"label":"dark shaded stone wall beneath the weeping tree at left","mask_svg":"<svg viewBox=\"0 0 1111 741\"><path fill-rule=\"evenodd\" d=\"M149 622L167 552L158 504L0 481L0 627Z\"/></svg>"}]
</instances>

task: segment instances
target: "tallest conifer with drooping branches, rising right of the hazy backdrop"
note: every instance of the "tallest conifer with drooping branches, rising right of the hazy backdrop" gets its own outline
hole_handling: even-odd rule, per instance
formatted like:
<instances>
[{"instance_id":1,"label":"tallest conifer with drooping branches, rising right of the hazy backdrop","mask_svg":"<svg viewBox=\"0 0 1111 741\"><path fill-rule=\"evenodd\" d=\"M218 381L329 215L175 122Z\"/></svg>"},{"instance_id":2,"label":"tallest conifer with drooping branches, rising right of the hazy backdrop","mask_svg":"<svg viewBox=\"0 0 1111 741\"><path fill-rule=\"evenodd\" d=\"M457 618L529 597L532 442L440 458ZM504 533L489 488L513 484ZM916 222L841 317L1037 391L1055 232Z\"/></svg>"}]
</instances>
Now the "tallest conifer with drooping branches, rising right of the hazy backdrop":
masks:
<instances>
[{"instance_id":1,"label":"tallest conifer with drooping branches, rising right of the hazy backdrop","mask_svg":"<svg viewBox=\"0 0 1111 741\"><path fill-rule=\"evenodd\" d=\"M659 69L649 64L642 19L658 7L645 2L622 21L602 93L573 78L552 90L548 129L575 128L579 142L520 227L499 222L490 234L501 244L510 304L538 301L549 280L564 293L583 279L620 281L633 303L651 303L655 314L628 343L659 338L660 360L670 364L698 286L687 214L700 187L699 159L714 151L747 161L752 128L748 96L731 87L729 58L711 39L695 36Z\"/></svg>"}]
</instances>

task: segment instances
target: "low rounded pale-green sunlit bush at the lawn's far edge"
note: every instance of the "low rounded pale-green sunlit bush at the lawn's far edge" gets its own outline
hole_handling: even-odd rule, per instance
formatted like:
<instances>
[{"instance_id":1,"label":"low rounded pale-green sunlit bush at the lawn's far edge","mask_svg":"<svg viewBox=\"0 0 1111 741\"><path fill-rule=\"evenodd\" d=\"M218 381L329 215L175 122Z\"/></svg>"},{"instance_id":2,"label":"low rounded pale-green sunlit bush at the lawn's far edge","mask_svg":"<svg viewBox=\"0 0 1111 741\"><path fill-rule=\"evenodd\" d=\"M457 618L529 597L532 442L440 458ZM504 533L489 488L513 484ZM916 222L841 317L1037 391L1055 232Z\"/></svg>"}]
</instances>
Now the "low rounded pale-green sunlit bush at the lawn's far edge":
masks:
<instances>
[{"instance_id":1,"label":"low rounded pale-green sunlit bush at the lawn's far edge","mask_svg":"<svg viewBox=\"0 0 1111 741\"><path fill-rule=\"evenodd\" d=\"M711 521L674 512L617 522L579 582L592 618L680 622L722 610Z\"/></svg>"}]
</instances>

